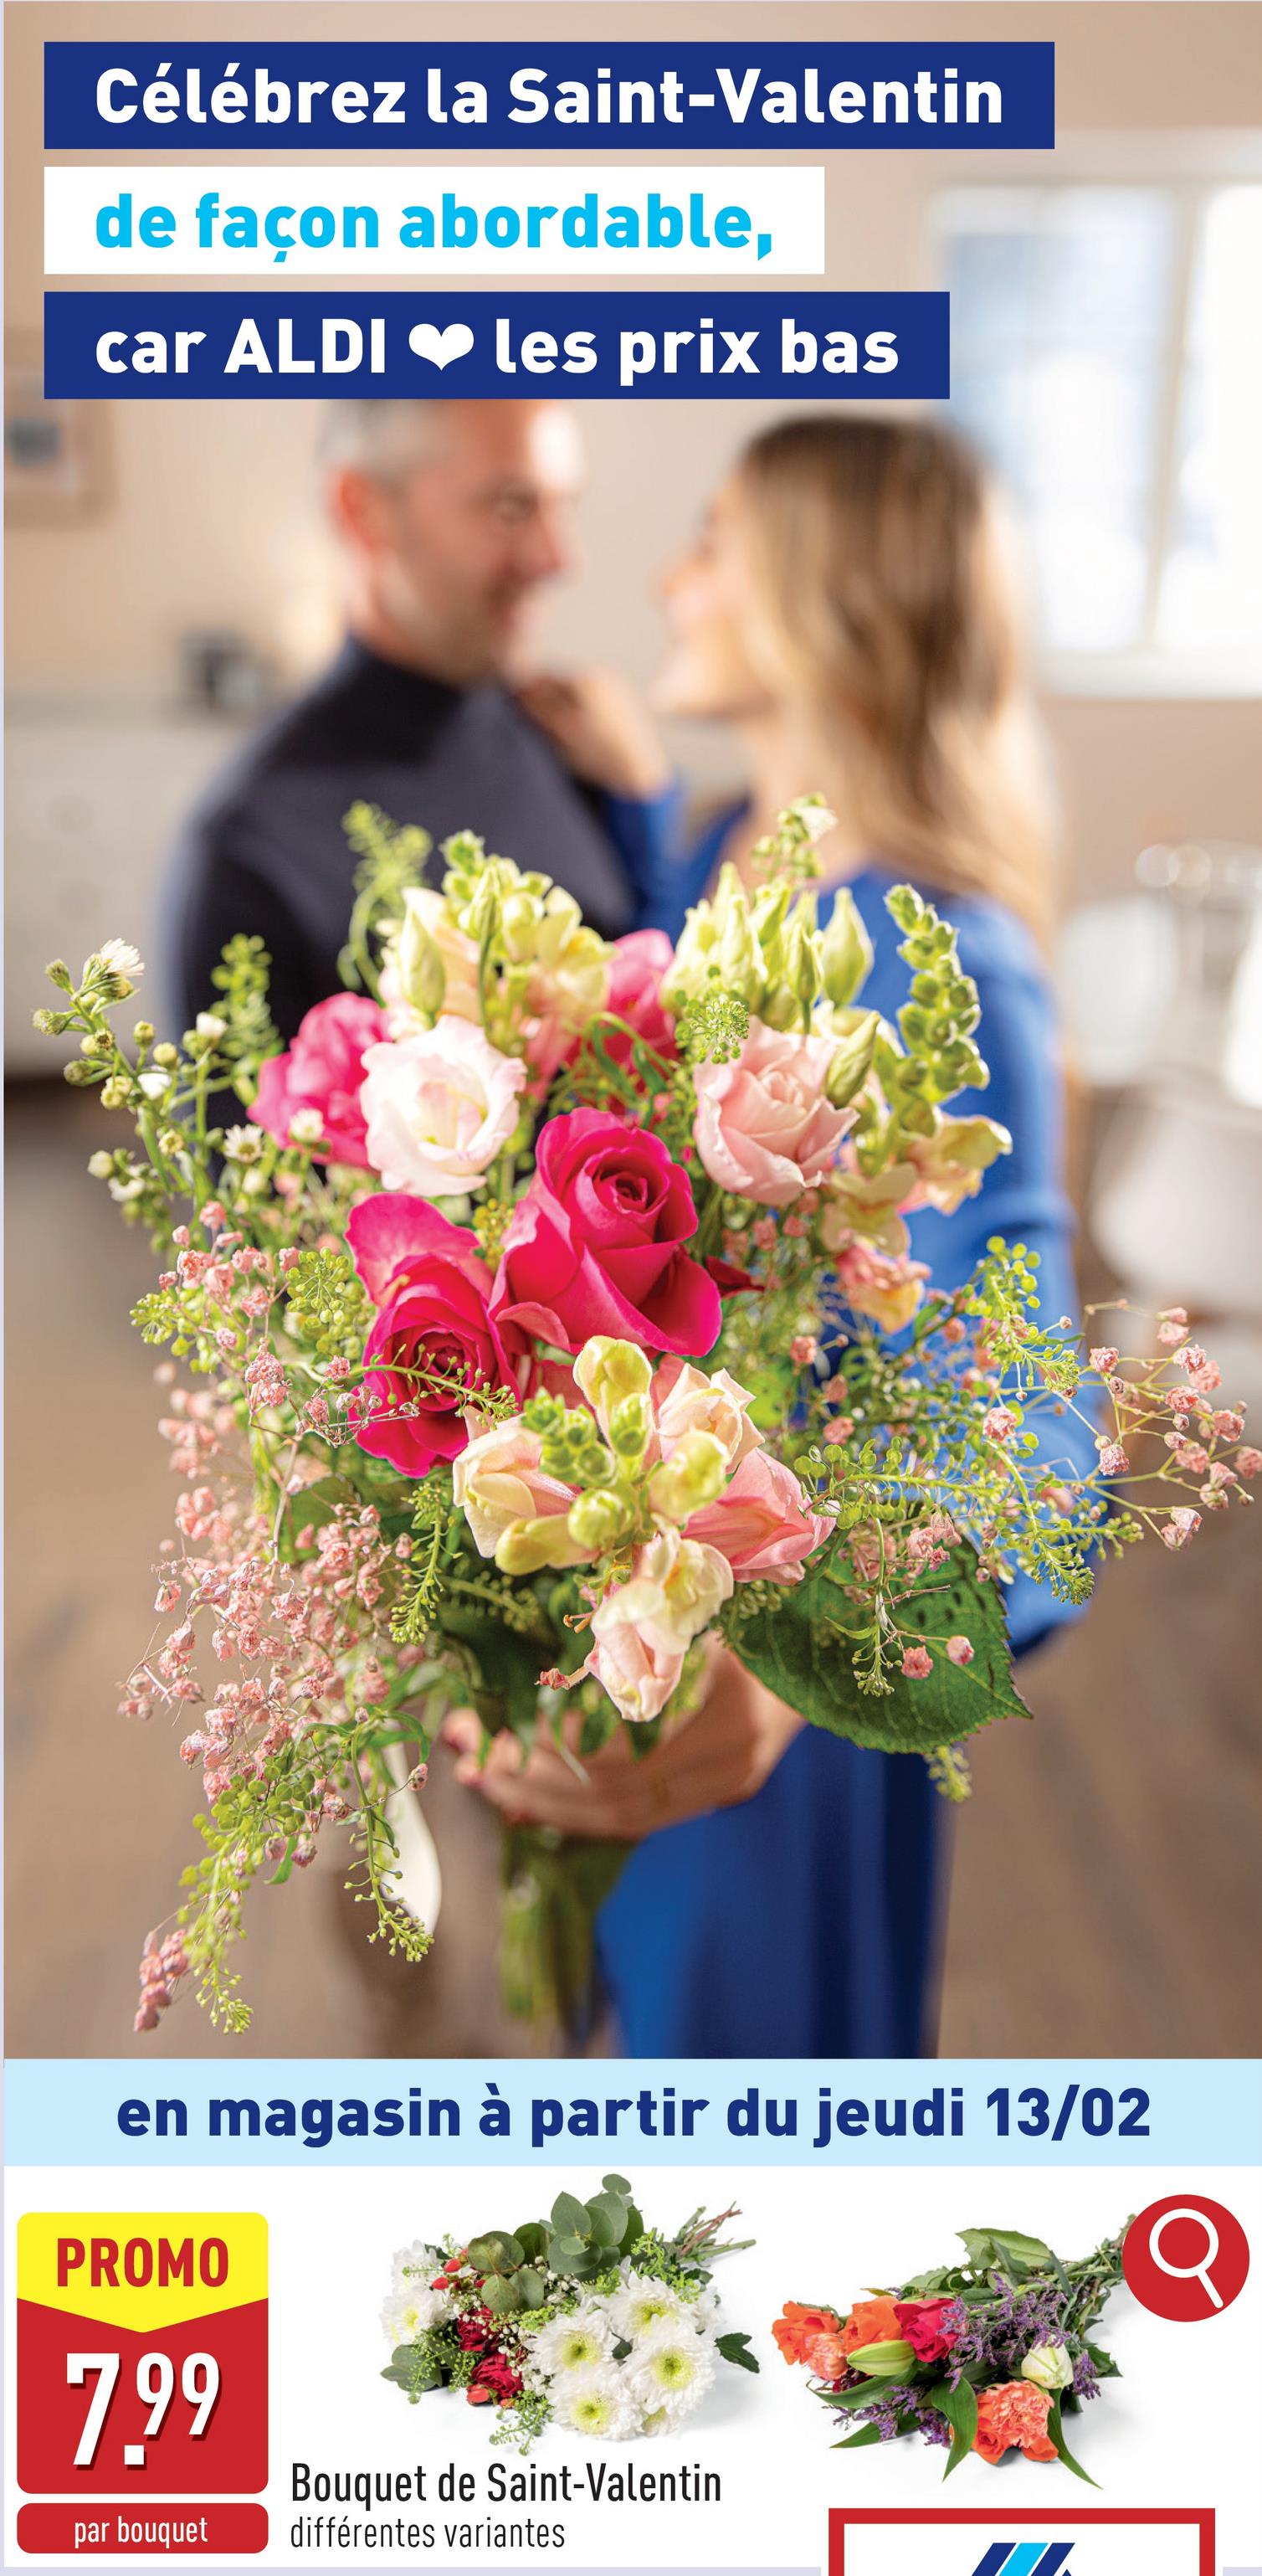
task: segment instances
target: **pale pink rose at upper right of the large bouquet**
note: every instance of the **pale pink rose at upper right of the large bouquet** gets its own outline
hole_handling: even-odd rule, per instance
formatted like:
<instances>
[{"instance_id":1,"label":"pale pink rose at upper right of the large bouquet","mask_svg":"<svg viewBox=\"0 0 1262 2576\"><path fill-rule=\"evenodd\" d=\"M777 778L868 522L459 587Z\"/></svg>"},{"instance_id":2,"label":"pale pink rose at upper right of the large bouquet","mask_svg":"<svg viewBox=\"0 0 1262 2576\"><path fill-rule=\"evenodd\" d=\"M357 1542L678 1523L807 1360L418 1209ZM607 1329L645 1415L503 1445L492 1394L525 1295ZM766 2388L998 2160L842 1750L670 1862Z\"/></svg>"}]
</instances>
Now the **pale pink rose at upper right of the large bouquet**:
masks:
<instances>
[{"instance_id":1,"label":"pale pink rose at upper right of the large bouquet","mask_svg":"<svg viewBox=\"0 0 1262 2576\"><path fill-rule=\"evenodd\" d=\"M852 1110L832 1110L824 1082L832 1038L809 1038L762 1020L734 1064L698 1064L695 1146L711 1180L765 1208L788 1208L829 1177Z\"/></svg>"}]
</instances>

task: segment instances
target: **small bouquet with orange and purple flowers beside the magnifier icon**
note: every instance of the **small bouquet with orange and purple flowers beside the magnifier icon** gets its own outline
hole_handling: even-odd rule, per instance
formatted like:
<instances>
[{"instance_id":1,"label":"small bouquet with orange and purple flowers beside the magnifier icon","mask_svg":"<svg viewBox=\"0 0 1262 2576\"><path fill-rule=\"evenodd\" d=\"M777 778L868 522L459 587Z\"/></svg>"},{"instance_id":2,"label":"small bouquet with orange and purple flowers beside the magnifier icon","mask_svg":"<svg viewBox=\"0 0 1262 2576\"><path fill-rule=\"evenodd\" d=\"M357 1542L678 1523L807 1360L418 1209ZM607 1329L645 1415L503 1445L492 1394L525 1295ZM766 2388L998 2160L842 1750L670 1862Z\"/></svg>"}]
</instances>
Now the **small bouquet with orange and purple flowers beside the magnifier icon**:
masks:
<instances>
[{"instance_id":1,"label":"small bouquet with orange and purple flowers beside the magnifier icon","mask_svg":"<svg viewBox=\"0 0 1262 2576\"><path fill-rule=\"evenodd\" d=\"M919 2432L948 2452L948 2478L971 2450L992 2468L1022 2450L1087 2478L1061 2416L1118 2378L1089 2329L1123 2277L1125 2228L1079 2262L1007 2228L958 2233L963 2262L873 2290L847 2316L788 2300L773 2326L786 2362L804 2362L814 2396L858 2427L834 2450Z\"/></svg>"}]
</instances>

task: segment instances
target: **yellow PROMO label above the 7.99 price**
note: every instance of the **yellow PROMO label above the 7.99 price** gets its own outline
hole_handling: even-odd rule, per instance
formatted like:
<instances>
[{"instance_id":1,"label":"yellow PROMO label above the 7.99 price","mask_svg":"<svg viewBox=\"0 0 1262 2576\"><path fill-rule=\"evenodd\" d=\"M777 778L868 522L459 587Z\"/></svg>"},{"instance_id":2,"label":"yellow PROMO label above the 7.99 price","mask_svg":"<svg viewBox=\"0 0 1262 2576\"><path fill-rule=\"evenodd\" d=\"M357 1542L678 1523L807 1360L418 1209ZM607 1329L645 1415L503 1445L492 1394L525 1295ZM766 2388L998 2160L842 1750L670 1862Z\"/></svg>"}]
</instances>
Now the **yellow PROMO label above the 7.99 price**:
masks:
<instances>
[{"instance_id":1,"label":"yellow PROMO label above the 7.99 price","mask_svg":"<svg viewBox=\"0 0 1262 2576\"><path fill-rule=\"evenodd\" d=\"M28 2210L18 2298L149 2334L268 2295L268 2221L255 2210Z\"/></svg>"}]
</instances>

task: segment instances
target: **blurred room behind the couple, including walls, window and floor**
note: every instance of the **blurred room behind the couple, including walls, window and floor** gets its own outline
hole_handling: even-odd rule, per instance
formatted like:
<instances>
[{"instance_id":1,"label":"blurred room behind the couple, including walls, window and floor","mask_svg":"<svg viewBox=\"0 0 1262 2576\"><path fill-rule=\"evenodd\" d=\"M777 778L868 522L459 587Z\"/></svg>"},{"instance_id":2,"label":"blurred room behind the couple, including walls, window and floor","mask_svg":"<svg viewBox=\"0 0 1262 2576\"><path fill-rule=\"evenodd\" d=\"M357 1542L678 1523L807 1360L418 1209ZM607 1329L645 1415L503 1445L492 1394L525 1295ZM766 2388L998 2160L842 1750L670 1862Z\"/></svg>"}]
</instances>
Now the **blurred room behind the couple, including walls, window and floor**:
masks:
<instances>
[{"instance_id":1,"label":"blurred room behind the couple, including walls, window and floor","mask_svg":"<svg viewBox=\"0 0 1262 2576\"><path fill-rule=\"evenodd\" d=\"M41 44L98 36L103 15L5 10L13 2056L219 2045L191 2004L144 2043L129 2027L196 1803L175 1736L113 1713L173 1486L126 1324L149 1255L85 1177L106 1121L57 1079L31 1010L52 956L77 963L106 935L147 948L180 814L340 631L309 404L41 399ZM832 155L829 283L950 286L948 415L1020 515L1064 809L1084 1296L1180 1296L1231 1396L1262 1409L1262 129L1241 126L1257 13L994 0L948 15L958 41L1056 41L1056 155ZM340 8L268 0L250 31L291 39L299 18L345 33ZM216 8L162 23L219 39ZM693 39L765 28L765 0L688 10ZM108 31L147 39L149 10L111 5ZM355 31L438 41L471 21L361 0ZM677 31L652 0L634 26L618 5L582 10L585 36ZM889 8L775 10L780 41L891 31L937 39L943 10L909 0L896 28ZM518 36L518 13L492 0L474 33ZM531 13L533 39L567 33L564 0ZM646 572L773 407L577 410L585 564L556 592L546 654L649 680ZM721 734L677 729L675 750L698 799L737 783ZM162 1020L149 984L147 1007ZM1249 1515L1213 1517L1190 1564L1144 1548L1107 1569L1087 1625L1025 1667L1038 1726L979 1741L956 1826L945 2050L1257 2050L1241 1973L1262 1929L1257 1582ZM358 1950L325 1862L255 1901L240 2048L520 2048L492 2002L489 1819L440 1775L430 1798L458 1893L428 1968L391 1976Z\"/></svg>"}]
</instances>

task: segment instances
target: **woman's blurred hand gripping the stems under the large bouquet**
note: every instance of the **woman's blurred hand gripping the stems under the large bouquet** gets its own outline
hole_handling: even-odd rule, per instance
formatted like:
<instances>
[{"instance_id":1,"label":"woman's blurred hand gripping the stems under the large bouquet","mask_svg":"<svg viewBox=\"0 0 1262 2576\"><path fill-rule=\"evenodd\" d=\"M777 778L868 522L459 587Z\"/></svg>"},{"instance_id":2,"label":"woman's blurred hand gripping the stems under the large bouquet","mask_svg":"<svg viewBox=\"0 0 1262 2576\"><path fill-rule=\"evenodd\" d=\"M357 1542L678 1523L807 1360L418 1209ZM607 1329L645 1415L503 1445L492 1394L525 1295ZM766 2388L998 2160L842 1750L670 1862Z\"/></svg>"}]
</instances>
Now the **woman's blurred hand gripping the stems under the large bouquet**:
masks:
<instances>
[{"instance_id":1,"label":"woman's blurred hand gripping the stems under the large bouquet","mask_svg":"<svg viewBox=\"0 0 1262 2576\"><path fill-rule=\"evenodd\" d=\"M479 1790L507 1824L641 1842L664 1824L755 1798L801 1723L724 1651L706 1705L639 1759L626 1726L603 1752L587 1754L582 1770L577 1757L556 1752L549 1734L525 1749L507 1728L482 1759L484 1734L471 1708L451 1713L443 1744L458 1754L456 1780Z\"/></svg>"}]
</instances>

